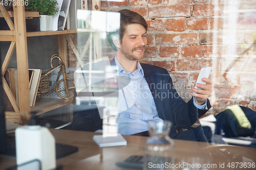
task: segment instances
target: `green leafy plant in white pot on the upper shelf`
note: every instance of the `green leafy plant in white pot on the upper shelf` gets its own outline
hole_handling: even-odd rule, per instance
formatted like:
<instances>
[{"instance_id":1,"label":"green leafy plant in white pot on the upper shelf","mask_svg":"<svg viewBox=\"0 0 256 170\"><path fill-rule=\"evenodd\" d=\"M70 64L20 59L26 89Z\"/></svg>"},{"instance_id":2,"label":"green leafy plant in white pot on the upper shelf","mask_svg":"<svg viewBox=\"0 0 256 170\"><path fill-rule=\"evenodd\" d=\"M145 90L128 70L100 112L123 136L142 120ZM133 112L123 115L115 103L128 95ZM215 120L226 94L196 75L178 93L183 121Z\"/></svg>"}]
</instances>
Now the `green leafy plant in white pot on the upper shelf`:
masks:
<instances>
[{"instance_id":1,"label":"green leafy plant in white pot on the upper shelf","mask_svg":"<svg viewBox=\"0 0 256 170\"><path fill-rule=\"evenodd\" d=\"M40 31L53 30L53 15L58 12L56 0L29 0L25 10L39 11L40 14Z\"/></svg>"}]
</instances>

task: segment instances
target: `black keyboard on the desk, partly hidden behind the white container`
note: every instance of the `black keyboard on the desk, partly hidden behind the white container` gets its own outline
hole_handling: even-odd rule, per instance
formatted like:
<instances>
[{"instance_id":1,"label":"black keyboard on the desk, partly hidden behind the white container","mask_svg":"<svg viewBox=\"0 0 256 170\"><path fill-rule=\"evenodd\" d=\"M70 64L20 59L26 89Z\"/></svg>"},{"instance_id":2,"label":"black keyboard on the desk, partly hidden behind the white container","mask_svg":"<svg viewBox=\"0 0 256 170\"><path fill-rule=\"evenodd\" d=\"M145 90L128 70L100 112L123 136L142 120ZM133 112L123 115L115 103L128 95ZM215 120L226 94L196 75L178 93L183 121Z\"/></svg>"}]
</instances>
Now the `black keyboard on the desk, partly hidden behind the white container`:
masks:
<instances>
[{"instance_id":1,"label":"black keyboard on the desk, partly hidden behind the white container","mask_svg":"<svg viewBox=\"0 0 256 170\"><path fill-rule=\"evenodd\" d=\"M16 156L16 143L15 136L7 135L7 155ZM68 144L55 143L56 159L60 159L71 155L78 151L78 147L74 147Z\"/></svg>"}]
</instances>

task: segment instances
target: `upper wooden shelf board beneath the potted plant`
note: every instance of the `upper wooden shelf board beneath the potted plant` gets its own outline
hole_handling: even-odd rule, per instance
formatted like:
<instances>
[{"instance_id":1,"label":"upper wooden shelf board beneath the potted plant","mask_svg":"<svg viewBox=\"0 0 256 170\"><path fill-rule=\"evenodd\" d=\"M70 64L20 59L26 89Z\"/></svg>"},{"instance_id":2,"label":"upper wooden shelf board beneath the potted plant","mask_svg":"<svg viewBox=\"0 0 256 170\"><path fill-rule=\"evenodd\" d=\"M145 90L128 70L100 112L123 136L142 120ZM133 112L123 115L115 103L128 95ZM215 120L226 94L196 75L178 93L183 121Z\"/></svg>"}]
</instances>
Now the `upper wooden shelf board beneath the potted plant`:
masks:
<instances>
[{"instance_id":1,"label":"upper wooden shelf board beneath the potted plant","mask_svg":"<svg viewBox=\"0 0 256 170\"><path fill-rule=\"evenodd\" d=\"M89 33L97 32L92 29L76 29L76 30L63 30L63 31L37 31L27 32L27 37L45 36L45 35L60 35L60 34L76 34L76 33Z\"/></svg>"}]
</instances>

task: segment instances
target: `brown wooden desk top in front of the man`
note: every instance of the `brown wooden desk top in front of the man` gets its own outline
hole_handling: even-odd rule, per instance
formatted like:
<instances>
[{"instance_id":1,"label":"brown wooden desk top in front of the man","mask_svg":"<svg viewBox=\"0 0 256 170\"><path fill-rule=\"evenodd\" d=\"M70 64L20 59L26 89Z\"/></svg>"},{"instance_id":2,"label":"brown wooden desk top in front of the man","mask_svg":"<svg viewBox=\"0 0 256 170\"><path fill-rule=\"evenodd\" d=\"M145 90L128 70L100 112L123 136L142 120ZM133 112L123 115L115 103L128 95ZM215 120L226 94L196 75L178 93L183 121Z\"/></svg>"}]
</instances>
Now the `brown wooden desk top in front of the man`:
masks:
<instances>
[{"instance_id":1,"label":"brown wooden desk top in front of the man","mask_svg":"<svg viewBox=\"0 0 256 170\"><path fill-rule=\"evenodd\" d=\"M123 161L131 155L143 155L143 144L148 137L123 135L127 140L127 145L119 147L99 148L94 142L93 135L100 133L81 132L71 130L51 129L56 142L71 144L79 147L79 151L70 156L57 160L57 165L62 164L63 169L124 169L115 165L118 161ZM256 148L237 147L232 145L207 144L205 142L194 142L185 140L174 140L176 144L176 163L188 156L199 156L204 158L211 150L211 164L216 163L217 168L211 169L253 169L253 168L227 168L228 162L242 162L241 155L248 156L256 163ZM227 152L216 152L217 147ZM208 148L205 149L205 148ZM215 151L215 152L212 152ZM223 156L224 154L224 156ZM226 157L226 159L223 159ZM245 159L244 159L245 161ZM248 160L247 160L248 161ZM0 155L0 169L15 165L16 158ZM225 168L219 165L225 163ZM126 169L126 168L125 168ZM180 169L180 168L177 168ZM255 168L254 168L255 169Z\"/></svg>"}]
</instances>

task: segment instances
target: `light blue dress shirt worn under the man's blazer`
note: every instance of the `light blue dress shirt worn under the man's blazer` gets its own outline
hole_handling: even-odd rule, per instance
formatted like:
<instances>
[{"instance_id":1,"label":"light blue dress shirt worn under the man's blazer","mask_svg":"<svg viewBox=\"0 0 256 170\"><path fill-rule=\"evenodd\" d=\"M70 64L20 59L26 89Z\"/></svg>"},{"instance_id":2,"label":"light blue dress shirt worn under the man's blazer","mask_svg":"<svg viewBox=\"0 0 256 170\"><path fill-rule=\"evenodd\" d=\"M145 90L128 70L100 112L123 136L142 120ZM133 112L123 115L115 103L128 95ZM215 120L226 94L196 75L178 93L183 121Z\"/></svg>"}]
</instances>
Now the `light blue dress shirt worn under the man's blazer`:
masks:
<instances>
[{"instance_id":1,"label":"light blue dress shirt worn under the man's blazer","mask_svg":"<svg viewBox=\"0 0 256 170\"><path fill-rule=\"evenodd\" d=\"M150 121L163 121L159 118L156 105L150 88L144 78L144 72L137 61L137 69L131 73L123 70L116 58L117 74L127 76L131 82L118 93L117 124L118 132L123 135L132 135L148 130L147 123ZM194 105L198 109L205 108L205 104Z\"/></svg>"}]
</instances>

